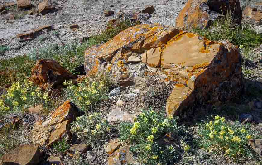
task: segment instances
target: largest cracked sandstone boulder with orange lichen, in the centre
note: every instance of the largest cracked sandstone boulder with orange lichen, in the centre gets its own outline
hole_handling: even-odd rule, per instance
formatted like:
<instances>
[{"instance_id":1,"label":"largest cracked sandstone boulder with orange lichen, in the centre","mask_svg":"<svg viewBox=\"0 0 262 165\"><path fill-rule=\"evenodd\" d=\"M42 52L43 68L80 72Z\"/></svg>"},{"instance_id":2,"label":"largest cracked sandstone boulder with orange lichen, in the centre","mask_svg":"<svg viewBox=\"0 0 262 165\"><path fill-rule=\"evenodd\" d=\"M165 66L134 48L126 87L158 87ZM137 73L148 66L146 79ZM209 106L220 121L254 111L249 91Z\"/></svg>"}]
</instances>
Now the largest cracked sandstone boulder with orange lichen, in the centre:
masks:
<instances>
[{"instance_id":1,"label":"largest cracked sandstone boulder with orange lichen, in the centre","mask_svg":"<svg viewBox=\"0 0 262 165\"><path fill-rule=\"evenodd\" d=\"M142 62L130 62L135 56ZM146 67L142 67L146 65ZM168 115L194 103L220 103L241 90L241 56L228 41L209 41L173 27L137 25L85 52L87 75L108 71L130 86L139 75L159 74L176 85L167 100Z\"/></svg>"}]
</instances>

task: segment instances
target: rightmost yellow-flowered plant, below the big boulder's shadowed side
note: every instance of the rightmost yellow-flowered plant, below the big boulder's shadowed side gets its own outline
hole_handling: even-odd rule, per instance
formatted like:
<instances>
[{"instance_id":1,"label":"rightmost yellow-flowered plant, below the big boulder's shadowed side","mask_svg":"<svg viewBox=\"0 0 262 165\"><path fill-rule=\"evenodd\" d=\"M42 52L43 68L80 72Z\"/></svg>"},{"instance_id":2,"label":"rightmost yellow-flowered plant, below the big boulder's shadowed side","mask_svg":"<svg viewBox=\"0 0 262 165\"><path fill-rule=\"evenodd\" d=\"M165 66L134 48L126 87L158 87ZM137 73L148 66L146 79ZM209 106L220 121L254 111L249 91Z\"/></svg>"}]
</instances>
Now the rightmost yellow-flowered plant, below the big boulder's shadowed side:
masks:
<instances>
[{"instance_id":1,"label":"rightmost yellow-flowered plant, below the big boulder's shadowed side","mask_svg":"<svg viewBox=\"0 0 262 165\"><path fill-rule=\"evenodd\" d=\"M200 147L232 158L255 156L248 146L248 140L261 138L261 135L251 130L250 124L241 125L239 122L230 124L220 116L215 116L213 119L213 121L198 125L198 134L201 137Z\"/></svg>"}]
</instances>

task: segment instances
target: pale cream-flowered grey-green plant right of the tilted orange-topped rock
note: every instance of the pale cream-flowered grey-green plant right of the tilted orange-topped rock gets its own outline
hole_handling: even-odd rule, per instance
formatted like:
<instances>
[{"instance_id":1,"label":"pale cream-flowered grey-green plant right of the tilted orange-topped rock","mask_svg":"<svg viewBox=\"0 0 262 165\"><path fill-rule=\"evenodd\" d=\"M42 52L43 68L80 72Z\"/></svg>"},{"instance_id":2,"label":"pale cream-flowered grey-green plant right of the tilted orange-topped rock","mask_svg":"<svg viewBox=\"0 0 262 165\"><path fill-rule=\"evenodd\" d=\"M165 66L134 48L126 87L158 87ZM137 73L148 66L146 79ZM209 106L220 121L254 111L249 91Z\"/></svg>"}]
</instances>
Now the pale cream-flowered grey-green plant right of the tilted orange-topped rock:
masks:
<instances>
[{"instance_id":1,"label":"pale cream-flowered grey-green plant right of the tilted orange-topped rock","mask_svg":"<svg viewBox=\"0 0 262 165\"><path fill-rule=\"evenodd\" d=\"M92 147L107 139L107 134L111 130L108 121L102 117L101 113L77 117L72 125L72 132L76 134L78 139L84 139Z\"/></svg>"}]
</instances>

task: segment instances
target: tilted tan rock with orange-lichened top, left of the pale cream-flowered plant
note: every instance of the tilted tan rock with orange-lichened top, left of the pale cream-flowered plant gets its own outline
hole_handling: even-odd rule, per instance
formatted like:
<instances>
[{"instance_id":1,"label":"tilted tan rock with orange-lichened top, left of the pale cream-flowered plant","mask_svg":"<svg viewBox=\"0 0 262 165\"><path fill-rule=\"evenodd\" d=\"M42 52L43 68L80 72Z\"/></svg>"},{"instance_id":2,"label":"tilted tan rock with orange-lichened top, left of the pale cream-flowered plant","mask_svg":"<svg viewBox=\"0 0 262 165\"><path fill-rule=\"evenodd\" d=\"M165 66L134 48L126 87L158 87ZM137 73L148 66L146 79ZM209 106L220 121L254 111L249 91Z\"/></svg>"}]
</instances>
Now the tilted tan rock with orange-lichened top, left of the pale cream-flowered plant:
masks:
<instances>
[{"instance_id":1,"label":"tilted tan rock with orange-lichened top, left of the pale cream-flowered plant","mask_svg":"<svg viewBox=\"0 0 262 165\"><path fill-rule=\"evenodd\" d=\"M54 112L51 112L48 118L41 119L34 124L33 141L38 145L46 144L48 147L65 134L71 136L70 123L80 115L83 114L76 105L69 101L64 102Z\"/></svg>"}]
</instances>

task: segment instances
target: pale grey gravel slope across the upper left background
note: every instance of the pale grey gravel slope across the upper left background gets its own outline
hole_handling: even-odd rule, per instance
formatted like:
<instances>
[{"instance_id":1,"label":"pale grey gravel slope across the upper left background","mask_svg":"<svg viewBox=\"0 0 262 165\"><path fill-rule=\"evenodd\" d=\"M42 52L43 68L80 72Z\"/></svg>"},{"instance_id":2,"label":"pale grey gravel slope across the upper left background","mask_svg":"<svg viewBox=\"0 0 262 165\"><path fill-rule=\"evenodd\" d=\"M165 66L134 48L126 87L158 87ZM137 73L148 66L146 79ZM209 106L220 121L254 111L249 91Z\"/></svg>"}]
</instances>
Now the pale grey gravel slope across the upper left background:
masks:
<instances>
[{"instance_id":1,"label":"pale grey gravel slope across the upper left background","mask_svg":"<svg viewBox=\"0 0 262 165\"><path fill-rule=\"evenodd\" d=\"M2 3L6 2L13 1L5 0ZM10 50L0 56L0 59L28 54L34 49L45 47L46 44L55 43L50 37L42 42L39 42L37 38L26 42L17 41L16 34L23 33L28 29L51 24L59 32L59 39L67 43L77 38L98 34L104 30L108 20L113 19L116 15L105 17L104 10L129 13L144 9L145 5L154 5L156 10L151 15L149 22L173 26L179 11L182 10L186 2L187 0L57 0L55 4L58 9L45 15L25 15L21 19L7 20L10 13L1 14L0 44L8 45ZM38 10L39 1L35 0L32 3ZM73 23L79 25L78 31L72 32L68 28L68 25Z\"/></svg>"}]
</instances>

